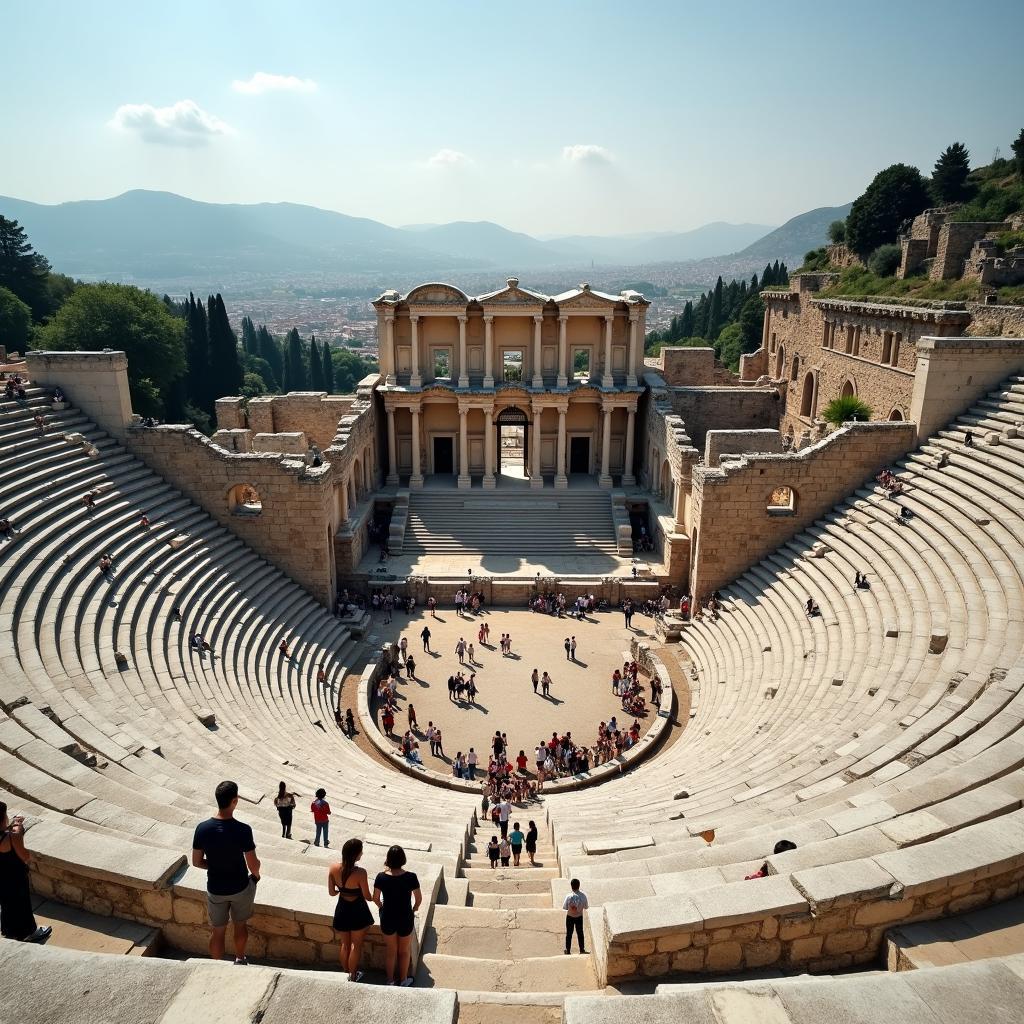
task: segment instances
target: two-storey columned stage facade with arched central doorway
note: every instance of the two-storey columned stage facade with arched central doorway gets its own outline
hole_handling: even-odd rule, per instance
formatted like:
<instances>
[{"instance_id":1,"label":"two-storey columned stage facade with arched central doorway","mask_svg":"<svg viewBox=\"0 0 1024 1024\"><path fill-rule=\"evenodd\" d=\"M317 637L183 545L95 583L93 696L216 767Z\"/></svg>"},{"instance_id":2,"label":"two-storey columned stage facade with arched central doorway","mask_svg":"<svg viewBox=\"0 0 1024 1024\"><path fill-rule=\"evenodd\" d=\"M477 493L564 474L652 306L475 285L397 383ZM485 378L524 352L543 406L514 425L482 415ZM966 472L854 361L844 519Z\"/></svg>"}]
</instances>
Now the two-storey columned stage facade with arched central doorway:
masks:
<instances>
[{"instance_id":1,"label":"two-storey columned stage facade with arched central doorway","mask_svg":"<svg viewBox=\"0 0 1024 1024\"><path fill-rule=\"evenodd\" d=\"M385 292L374 306L387 483L635 484L647 305L589 285L542 295L514 278L478 296Z\"/></svg>"}]
</instances>

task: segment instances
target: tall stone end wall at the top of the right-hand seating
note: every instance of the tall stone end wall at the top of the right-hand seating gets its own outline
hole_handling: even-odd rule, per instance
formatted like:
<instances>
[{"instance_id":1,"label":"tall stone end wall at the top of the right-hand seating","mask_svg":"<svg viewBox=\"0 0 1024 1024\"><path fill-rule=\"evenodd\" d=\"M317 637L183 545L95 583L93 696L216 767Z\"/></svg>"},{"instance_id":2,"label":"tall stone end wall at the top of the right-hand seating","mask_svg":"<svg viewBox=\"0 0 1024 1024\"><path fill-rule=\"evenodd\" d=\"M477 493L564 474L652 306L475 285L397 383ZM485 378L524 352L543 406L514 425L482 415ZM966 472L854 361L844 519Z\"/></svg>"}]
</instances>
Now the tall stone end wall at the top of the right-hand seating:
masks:
<instances>
[{"instance_id":1,"label":"tall stone end wall at the top of the right-hand seating","mask_svg":"<svg viewBox=\"0 0 1024 1024\"><path fill-rule=\"evenodd\" d=\"M919 440L944 427L1007 377L1022 373L1022 338L923 338L910 400Z\"/></svg>"}]
</instances>

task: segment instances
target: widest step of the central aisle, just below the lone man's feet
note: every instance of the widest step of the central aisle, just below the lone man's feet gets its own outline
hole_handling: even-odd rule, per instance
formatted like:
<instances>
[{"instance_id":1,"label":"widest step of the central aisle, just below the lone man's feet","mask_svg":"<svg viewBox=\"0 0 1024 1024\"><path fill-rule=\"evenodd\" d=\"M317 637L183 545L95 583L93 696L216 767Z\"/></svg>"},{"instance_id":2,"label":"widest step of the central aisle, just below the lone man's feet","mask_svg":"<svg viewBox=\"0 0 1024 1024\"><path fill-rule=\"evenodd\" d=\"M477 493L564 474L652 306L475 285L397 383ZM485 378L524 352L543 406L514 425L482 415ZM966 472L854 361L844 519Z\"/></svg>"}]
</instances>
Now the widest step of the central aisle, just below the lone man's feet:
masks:
<instances>
[{"instance_id":1,"label":"widest step of the central aisle, just below the lone man's feet","mask_svg":"<svg viewBox=\"0 0 1024 1024\"><path fill-rule=\"evenodd\" d=\"M527 956L506 959L445 956L426 953L416 975L424 988L455 988L476 992L587 992L597 991L593 957L573 952L566 956Z\"/></svg>"}]
</instances>

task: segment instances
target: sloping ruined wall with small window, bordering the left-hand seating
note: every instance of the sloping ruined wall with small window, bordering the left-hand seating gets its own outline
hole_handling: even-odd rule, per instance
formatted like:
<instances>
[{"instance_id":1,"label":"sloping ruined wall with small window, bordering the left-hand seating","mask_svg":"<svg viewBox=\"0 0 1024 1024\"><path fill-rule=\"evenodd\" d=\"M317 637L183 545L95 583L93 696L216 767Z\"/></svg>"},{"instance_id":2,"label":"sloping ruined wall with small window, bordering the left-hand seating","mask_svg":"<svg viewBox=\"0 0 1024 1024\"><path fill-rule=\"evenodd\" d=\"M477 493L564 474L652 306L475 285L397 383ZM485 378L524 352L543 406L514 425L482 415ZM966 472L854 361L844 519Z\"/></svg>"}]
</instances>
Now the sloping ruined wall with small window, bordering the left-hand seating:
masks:
<instances>
[{"instance_id":1,"label":"sloping ruined wall with small window, bordering the left-hand seating","mask_svg":"<svg viewBox=\"0 0 1024 1024\"><path fill-rule=\"evenodd\" d=\"M317 601L332 606L330 465L313 469L288 456L229 453L186 426L133 426L124 443ZM255 487L261 513L232 511L229 496L239 484Z\"/></svg>"}]
</instances>

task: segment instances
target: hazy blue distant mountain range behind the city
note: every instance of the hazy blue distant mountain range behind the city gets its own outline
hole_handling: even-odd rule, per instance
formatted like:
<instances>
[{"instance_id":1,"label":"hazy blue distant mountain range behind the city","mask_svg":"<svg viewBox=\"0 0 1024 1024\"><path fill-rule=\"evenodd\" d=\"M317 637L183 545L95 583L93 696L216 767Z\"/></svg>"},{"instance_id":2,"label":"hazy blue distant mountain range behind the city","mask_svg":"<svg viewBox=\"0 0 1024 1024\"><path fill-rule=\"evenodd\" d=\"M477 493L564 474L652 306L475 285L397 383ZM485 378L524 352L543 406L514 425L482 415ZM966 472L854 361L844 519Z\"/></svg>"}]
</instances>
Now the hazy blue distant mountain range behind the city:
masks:
<instances>
[{"instance_id":1,"label":"hazy blue distant mountain range behind the city","mask_svg":"<svg viewBox=\"0 0 1024 1024\"><path fill-rule=\"evenodd\" d=\"M295 203L201 203L136 189L105 200L45 206L0 197L53 266L87 280L221 282L302 274L458 271L497 275L541 269L707 261L734 254L792 266L824 242L849 207L813 210L772 229L721 221L691 231L537 239L488 221L389 227Z\"/></svg>"}]
</instances>

